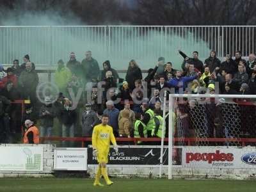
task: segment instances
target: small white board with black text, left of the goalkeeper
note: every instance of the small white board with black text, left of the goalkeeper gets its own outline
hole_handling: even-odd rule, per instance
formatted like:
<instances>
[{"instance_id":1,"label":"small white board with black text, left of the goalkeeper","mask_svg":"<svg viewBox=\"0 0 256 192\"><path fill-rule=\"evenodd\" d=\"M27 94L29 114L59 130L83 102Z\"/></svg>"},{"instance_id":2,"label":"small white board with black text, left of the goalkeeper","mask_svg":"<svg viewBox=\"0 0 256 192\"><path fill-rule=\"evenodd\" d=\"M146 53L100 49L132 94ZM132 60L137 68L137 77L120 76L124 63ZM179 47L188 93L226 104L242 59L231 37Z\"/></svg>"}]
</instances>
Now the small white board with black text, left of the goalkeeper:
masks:
<instances>
[{"instance_id":1,"label":"small white board with black text, left of the goalkeeper","mask_svg":"<svg viewBox=\"0 0 256 192\"><path fill-rule=\"evenodd\" d=\"M54 149L54 170L87 170L87 148Z\"/></svg>"}]
</instances>

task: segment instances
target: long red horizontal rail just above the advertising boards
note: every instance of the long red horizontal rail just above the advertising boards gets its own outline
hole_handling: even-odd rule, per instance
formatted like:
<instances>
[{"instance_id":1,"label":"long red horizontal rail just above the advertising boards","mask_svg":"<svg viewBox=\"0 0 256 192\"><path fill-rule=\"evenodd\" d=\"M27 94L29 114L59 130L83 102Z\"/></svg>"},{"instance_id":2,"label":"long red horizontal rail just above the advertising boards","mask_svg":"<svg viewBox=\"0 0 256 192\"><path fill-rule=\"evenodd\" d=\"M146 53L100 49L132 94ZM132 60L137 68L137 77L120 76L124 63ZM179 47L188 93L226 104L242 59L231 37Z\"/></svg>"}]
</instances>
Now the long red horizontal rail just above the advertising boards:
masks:
<instances>
[{"instance_id":1,"label":"long red horizontal rail just above the advertising boards","mask_svg":"<svg viewBox=\"0 0 256 192\"><path fill-rule=\"evenodd\" d=\"M82 143L84 147L84 142L92 141L92 138L62 138L62 137L49 137L49 138L40 138L40 143L44 141L78 141ZM116 141L133 141L136 145L137 141L161 141L161 138L116 138ZM164 141L168 141L168 138L164 138ZM188 143L190 146L194 142L207 141L209 143L214 142L237 142L242 143L244 147L246 143L256 143L256 138L174 138L174 142L182 141Z\"/></svg>"}]
</instances>

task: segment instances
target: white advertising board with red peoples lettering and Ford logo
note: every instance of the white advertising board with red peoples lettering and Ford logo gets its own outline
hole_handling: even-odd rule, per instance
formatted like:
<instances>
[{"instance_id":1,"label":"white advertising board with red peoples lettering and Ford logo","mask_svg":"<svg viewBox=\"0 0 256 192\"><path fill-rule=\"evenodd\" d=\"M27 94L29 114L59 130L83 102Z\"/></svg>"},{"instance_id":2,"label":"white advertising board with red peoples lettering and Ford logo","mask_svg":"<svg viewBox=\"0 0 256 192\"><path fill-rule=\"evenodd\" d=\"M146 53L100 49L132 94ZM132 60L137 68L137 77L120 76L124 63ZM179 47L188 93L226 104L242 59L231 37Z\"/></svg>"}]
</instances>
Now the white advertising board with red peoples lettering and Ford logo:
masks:
<instances>
[{"instance_id":1,"label":"white advertising board with red peoples lettering and Ford logo","mask_svg":"<svg viewBox=\"0 0 256 192\"><path fill-rule=\"evenodd\" d=\"M183 168L256 168L255 147L183 147Z\"/></svg>"}]
</instances>

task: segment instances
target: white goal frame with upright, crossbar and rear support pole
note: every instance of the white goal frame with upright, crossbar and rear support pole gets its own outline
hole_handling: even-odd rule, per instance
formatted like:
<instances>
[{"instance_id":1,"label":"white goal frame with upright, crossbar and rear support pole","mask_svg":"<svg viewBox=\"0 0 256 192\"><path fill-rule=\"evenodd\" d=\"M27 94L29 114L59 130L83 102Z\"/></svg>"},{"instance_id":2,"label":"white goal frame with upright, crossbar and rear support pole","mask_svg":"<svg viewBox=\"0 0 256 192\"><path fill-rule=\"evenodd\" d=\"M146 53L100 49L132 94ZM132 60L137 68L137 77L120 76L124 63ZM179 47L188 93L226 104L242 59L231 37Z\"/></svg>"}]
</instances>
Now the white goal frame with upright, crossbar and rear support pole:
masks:
<instances>
[{"instance_id":1,"label":"white goal frame with upright, crossbar and rear support pole","mask_svg":"<svg viewBox=\"0 0 256 192\"><path fill-rule=\"evenodd\" d=\"M207 102L206 100L209 99L213 99L215 103L222 103L224 104L227 104L228 103L232 103L230 104L230 106L226 106L226 108L223 110L224 113L227 113L227 114L224 114L224 118L227 117L228 119L228 122L223 120L223 124L226 124L226 125L223 125L226 126L226 127L236 127L236 124L238 124L238 122L236 121L237 117L234 118L234 119L230 119L230 116L234 116L234 114L236 115L237 114L237 111L236 109L234 108L234 102L232 102L231 100L233 99L256 99L256 95L219 95L219 94L169 94L169 99L168 101L166 101L166 92L164 92L164 106L163 106L163 130L165 130L165 118L166 118L166 106L167 106L167 102L168 102L168 179L172 179L173 178L173 172L172 172L172 169L173 169L173 127L174 127L174 120L173 120L173 113L175 113L175 104L177 104L177 99L181 99L181 98L186 98L187 100L196 100L196 102L198 102L198 106L201 106L201 105L204 105L204 108L205 108L205 103ZM227 102L226 102L227 100ZM231 101L231 102L230 102ZM200 102L205 102L204 104L201 104ZM232 106L231 106L232 105ZM176 106L177 107L177 106ZM228 109L227 109L228 108ZM239 108L239 106L238 106ZM196 108L190 108L191 110L191 113L193 113L193 111L196 111ZM198 109L199 110L199 109ZM228 111L229 110L229 111ZM231 111L231 112L230 112ZM200 127L204 127L204 118L205 116L207 115L204 115L204 112L205 111L197 111L195 113L195 117L197 118L197 122L196 122L196 125L195 126L198 126L199 128ZM202 113L202 115L201 115ZM206 113L206 112L205 112ZM209 113L209 111L207 111L207 113ZM211 113L216 113L216 111L211 111ZM234 113L234 114L232 114ZM200 118L200 117L197 117L196 115L200 114L203 118ZM231 114L231 115L230 115ZM199 115L199 116L200 116ZM230 115L230 116L228 116ZM246 114L244 114L246 115ZM179 118L179 116L177 117ZM207 118L209 118L209 116L207 116ZM240 116L239 116L240 118ZM195 123L195 122L193 122ZM200 124L200 125L199 125ZM239 122L239 124L241 124L241 122ZM196 127L196 128L198 128ZM182 124L179 125L179 129L183 129L184 127L182 127ZM199 130L198 128L198 130ZM232 128L234 129L234 128ZM241 133L240 132L241 130L239 129L237 132L238 135ZM164 131L163 131L164 132ZM164 149L164 134L162 132L162 138L161 138L161 156L160 156L160 166L159 166L159 178L161 178L162 176L162 171L163 171L163 149ZM202 133L201 133L202 134ZM183 137L184 135L182 135ZM209 136L205 136L205 138L207 138ZM232 137L232 136L231 136ZM230 137L230 138L231 138ZM198 138L201 138L200 136L198 136ZM180 147L182 147L183 143L180 145ZM196 146L194 146L196 147ZM182 164L182 163L181 163ZM193 167L191 167L193 168Z\"/></svg>"}]
</instances>

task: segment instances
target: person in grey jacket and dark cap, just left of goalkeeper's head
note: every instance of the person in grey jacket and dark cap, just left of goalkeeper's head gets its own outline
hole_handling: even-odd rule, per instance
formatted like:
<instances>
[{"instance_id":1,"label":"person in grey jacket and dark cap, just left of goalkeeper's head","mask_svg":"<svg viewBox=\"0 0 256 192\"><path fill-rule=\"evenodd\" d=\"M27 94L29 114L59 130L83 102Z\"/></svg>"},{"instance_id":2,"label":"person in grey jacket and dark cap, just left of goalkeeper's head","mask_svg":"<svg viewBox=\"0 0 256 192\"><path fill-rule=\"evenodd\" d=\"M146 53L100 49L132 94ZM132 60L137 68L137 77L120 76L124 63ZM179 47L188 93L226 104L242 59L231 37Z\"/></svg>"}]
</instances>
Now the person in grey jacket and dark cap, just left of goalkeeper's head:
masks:
<instances>
[{"instance_id":1,"label":"person in grey jacket and dark cap, just left of goalkeeper's head","mask_svg":"<svg viewBox=\"0 0 256 192\"><path fill-rule=\"evenodd\" d=\"M92 137L93 127L99 123L99 118L95 111L92 110L92 104L87 103L83 111L81 127L83 137Z\"/></svg>"}]
</instances>

